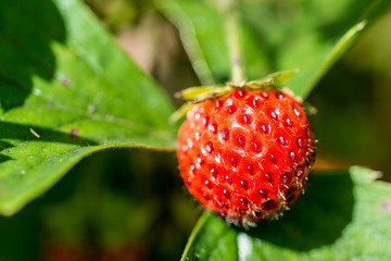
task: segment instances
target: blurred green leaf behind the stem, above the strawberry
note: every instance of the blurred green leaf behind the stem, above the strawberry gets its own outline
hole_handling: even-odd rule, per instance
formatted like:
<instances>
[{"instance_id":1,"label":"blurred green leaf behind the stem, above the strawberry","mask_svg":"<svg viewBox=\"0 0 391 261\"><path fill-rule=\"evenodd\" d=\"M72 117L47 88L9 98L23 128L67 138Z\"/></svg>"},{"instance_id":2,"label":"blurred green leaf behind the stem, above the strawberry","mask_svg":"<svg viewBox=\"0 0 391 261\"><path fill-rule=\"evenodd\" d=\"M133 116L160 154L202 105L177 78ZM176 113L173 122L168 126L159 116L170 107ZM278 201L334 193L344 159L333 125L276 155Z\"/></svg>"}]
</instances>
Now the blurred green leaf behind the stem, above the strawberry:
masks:
<instances>
[{"instance_id":1,"label":"blurred green leaf behind the stem, above the strawberry","mask_svg":"<svg viewBox=\"0 0 391 261\"><path fill-rule=\"evenodd\" d=\"M227 38L230 37L224 27L228 17L223 12L225 1L156 2L179 28L202 84L228 80ZM249 0L240 3L238 41L242 47L247 79L298 69L299 73L287 86L303 99L363 32L363 24L358 23L371 24L391 7L389 0Z\"/></svg>"}]
</instances>

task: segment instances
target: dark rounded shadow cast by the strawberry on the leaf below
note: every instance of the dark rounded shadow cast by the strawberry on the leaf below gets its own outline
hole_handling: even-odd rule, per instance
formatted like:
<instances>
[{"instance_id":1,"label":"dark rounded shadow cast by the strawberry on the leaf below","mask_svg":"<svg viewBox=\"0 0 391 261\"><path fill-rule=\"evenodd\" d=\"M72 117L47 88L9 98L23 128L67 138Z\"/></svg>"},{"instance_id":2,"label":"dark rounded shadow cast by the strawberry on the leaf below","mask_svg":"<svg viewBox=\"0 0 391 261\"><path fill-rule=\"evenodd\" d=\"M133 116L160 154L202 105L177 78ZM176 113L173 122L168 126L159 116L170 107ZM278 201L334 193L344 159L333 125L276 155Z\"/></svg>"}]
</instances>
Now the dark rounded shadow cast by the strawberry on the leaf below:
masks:
<instances>
[{"instance_id":1,"label":"dark rounded shadow cast by the strawberry on the leaf below","mask_svg":"<svg viewBox=\"0 0 391 261\"><path fill-rule=\"evenodd\" d=\"M317 172L305 195L278 221L265 221L250 236L283 248L307 251L333 244L352 221L353 183L346 171Z\"/></svg>"}]
</instances>

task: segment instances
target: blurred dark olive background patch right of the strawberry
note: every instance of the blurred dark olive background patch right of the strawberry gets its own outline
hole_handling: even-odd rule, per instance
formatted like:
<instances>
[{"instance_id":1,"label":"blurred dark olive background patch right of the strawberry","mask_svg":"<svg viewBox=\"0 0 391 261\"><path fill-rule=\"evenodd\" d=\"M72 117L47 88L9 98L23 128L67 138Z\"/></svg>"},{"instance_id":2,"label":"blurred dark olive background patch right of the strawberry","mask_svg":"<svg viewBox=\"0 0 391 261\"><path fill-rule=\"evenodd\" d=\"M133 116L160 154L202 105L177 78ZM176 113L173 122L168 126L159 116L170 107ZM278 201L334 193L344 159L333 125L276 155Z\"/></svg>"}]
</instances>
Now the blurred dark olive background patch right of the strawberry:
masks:
<instances>
[{"instance_id":1,"label":"blurred dark olive background patch right of the strawberry","mask_svg":"<svg viewBox=\"0 0 391 261\"><path fill-rule=\"evenodd\" d=\"M308 98L319 159L362 164L391 181L391 12L371 26Z\"/></svg>"}]
</instances>

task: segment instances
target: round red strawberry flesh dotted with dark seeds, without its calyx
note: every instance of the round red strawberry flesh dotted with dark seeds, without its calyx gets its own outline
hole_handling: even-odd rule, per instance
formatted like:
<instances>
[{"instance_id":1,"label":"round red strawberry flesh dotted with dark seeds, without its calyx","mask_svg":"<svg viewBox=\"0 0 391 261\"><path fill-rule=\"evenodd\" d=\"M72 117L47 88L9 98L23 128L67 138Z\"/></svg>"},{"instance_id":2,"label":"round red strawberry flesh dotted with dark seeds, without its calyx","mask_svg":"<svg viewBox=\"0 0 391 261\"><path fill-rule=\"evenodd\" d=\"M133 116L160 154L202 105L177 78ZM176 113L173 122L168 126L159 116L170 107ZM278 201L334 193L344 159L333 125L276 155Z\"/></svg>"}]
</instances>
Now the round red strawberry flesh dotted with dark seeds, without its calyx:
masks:
<instances>
[{"instance_id":1,"label":"round red strawberry flesh dotted with dark seeds, without its calyx","mask_svg":"<svg viewBox=\"0 0 391 261\"><path fill-rule=\"evenodd\" d=\"M303 191L314 144L303 109L288 94L236 90L188 112L177 157L191 195L228 222L251 225Z\"/></svg>"}]
</instances>

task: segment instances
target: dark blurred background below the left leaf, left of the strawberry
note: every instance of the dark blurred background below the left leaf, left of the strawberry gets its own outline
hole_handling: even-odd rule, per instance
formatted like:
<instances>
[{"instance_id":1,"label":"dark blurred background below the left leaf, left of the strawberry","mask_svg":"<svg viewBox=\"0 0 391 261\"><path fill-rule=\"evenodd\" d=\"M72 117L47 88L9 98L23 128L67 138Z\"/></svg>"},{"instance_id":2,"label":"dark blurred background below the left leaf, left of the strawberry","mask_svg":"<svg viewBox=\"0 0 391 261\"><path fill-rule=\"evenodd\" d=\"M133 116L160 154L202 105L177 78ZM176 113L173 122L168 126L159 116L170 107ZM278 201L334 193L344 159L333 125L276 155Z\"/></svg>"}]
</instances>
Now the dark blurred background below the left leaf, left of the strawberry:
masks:
<instances>
[{"instance_id":1,"label":"dark blurred background below the left leaf, left of the strawberry","mask_svg":"<svg viewBox=\"0 0 391 261\"><path fill-rule=\"evenodd\" d=\"M0 217L0 260L178 259L199 209L176 164L138 149L83 160L43 198Z\"/></svg>"}]
</instances>

